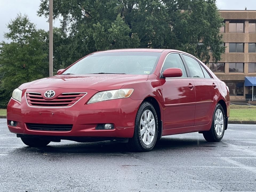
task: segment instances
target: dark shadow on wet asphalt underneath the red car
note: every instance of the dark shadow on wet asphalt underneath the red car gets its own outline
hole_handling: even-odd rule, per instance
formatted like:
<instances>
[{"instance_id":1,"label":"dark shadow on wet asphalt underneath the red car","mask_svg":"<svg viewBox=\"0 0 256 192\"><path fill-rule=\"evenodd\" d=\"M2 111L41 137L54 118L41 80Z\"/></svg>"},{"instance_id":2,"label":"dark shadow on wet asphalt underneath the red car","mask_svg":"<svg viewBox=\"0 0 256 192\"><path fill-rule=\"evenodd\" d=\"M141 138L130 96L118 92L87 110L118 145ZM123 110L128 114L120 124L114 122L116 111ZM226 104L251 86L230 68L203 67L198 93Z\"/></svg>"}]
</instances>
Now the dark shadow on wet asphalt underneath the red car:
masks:
<instances>
[{"instance_id":1,"label":"dark shadow on wet asphalt underneath the red car","mask_svg":"<svg viewBox=\"0 0 256 192\"><path fill-rule=\"evenodd\" d=\"M204 139L181 139L181 138L162 138L157 141L152 151L158 152L175 149L194 149L201 150L201 147L212 149L212 147L225 147L222 142L207 142ZM199 149L200 148L200 149ZM62 142L50 143L46 147L21 147L15 149L15 153L29 154L136 154L126 147L126 143L117 143L111 141L78 143Z\"/></svg>"}]
</instances>

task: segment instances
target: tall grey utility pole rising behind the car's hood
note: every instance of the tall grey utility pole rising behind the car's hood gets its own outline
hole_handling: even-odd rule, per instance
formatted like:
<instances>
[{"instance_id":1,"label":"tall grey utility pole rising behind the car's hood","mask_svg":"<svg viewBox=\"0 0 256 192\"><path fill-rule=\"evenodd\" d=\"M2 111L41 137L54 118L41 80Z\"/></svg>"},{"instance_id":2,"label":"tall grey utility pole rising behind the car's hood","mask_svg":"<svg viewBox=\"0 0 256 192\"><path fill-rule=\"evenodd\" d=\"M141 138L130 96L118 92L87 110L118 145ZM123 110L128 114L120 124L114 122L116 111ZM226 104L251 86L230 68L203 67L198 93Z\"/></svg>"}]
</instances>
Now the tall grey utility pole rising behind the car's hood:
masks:
<instances>
[{"instance_id":1,"label":"tall grey utility pole rising behind the car's hood","mask_svg":"<svg viewBox=\"0 0 256 192\"><path fill-rule=\"evenodd\" d=\"M49 0L49 77L53 76L53 0Z\"/></svg>"}]
</instances>

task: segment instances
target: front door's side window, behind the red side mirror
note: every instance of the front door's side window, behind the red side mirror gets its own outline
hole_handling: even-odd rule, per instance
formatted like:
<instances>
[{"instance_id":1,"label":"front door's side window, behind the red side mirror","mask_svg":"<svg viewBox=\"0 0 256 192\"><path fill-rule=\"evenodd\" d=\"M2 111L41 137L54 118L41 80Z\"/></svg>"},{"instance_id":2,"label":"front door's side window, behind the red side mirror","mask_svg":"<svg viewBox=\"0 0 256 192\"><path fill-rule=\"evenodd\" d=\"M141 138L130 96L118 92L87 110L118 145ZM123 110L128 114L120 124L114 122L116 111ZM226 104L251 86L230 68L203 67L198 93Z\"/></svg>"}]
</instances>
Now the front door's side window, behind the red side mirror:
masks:
<instances>
[{"instance_id":1,"label":"front door's side window, behind the red side mirror","mask_svg":"<svg viewBox=\"0 0 256 192\"><path fill-rule=\"evenodd\" d=\"M165 63L163 64L161 74L163 74L163 72L169 68L179 68L182 70L181 77L187 77L185 66L184 66L184 64L181 60L181 57L178 53L171 53L171 54L167 55L167 57L165 59Z\"/></svg>"}]
</instances>

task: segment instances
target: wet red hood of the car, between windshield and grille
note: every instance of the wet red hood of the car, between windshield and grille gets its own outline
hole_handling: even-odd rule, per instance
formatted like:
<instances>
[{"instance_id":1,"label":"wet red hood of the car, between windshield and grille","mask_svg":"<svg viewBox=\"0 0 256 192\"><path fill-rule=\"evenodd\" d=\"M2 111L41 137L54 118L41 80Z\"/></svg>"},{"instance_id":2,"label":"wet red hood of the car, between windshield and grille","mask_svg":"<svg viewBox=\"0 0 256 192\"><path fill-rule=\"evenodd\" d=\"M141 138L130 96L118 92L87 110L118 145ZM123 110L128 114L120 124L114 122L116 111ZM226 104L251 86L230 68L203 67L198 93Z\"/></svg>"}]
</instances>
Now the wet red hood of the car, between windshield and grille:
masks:
<instances>
[{"instance_id":1,"label":"wet red hood of the car, between windshield and grille","mask_svg":"<svg viewBox=\"0 0 256 192\"><path fill-rule=\"evenodd\" d=\"M59 87L67 89L93 89L97 91L120 89L124 84L147 81L148 75L85 74L55 75L22 84L19 89Z\"/></svg>"}]
</instances>

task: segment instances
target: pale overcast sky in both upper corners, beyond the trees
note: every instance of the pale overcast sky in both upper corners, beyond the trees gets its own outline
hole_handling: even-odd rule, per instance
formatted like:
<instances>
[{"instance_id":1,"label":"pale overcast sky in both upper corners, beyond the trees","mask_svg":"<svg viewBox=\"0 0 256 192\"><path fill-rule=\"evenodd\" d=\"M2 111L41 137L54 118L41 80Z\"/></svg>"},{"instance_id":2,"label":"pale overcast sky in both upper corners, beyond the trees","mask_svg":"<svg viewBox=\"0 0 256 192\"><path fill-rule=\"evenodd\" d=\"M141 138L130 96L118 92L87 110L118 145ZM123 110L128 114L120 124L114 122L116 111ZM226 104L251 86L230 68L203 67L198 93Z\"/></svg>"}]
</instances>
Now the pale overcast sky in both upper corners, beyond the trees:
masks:
<instances>
[{"instance_id":1,"label":"pale overcast sky in both upper corners, beyond the trees","mask_svg":"<svg viewBox=\"0 0 256 192\"><path fill-rule=\"evenodd\" d=\"M111 0L110 0L111 1ZM49 23L44 17L37 16L40 0L0 0L0 42L5 40L3 33L8 32L6 24L14 19L17 13L27 14L31 22L36 24L37 29L49 30ZM256 10L255 0L217 0L217 6L222 10ZM55 21L58 27L59 22Z\"/></svg>"}]
</instances>

